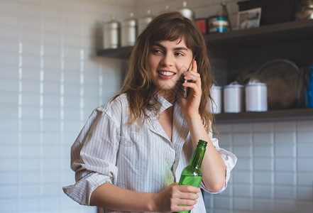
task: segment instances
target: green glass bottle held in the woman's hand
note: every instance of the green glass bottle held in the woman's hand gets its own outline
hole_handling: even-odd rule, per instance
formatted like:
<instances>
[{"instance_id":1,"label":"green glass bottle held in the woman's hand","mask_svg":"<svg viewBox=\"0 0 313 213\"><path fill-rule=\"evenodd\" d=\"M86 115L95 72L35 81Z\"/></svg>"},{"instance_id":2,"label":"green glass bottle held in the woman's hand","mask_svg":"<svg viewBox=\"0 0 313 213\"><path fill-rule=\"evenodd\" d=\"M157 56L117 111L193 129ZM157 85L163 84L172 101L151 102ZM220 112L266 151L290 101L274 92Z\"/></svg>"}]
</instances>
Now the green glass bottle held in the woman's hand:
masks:
<instances>
[{"instance_id":1,"label":"green glass bottle held in the woman's hand","mask_svg":"<svg viewBox=\"0 0 313 213\"><path fill-rule=\"evenodd\" d=\"M207 147L207 141L199 140L190 165L182 170L182 175L180 175L180 182L178 185L192 185L194 187L199 187L202 180L201 163L204 157L204 153ZM180 213L187 213L191 211L185 211Z\"/></svg>"}]
</instances>

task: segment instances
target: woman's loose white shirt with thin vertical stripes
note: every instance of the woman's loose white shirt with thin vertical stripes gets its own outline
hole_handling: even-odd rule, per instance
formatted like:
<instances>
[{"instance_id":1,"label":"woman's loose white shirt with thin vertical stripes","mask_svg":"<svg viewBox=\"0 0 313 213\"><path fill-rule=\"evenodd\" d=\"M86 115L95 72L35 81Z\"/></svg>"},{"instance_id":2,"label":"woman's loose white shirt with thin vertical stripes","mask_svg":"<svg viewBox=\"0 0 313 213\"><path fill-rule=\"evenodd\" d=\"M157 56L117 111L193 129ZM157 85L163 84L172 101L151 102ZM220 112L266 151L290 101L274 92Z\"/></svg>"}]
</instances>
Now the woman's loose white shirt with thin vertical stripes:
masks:
<instances>
[{"instance_id":1,"label":"woman's loose white shirt with thin vertical stripes","mask_svg":"<svg viewBox=\"0 0 313 213\"><path fill-rule=\"evenodd\" d=\"M162 97L158 99L160 112L172 106ZM72 200L88 205L92 192L106 182L128 190L156 193L179 180L194 153L180 106L175 104L173 109L172 141L157 117L149 114L150 120L146 119L142 126L130 125L126 94L92 112L72 145L71 168L76 183L63 187ZM209 137L226 165L226 183L221 192L226 188L236 156L219 148L212 133ZM200 187L207 190L203 184ZM192 212L206 212L201 192Z\"/></svg>"}]
</instances>

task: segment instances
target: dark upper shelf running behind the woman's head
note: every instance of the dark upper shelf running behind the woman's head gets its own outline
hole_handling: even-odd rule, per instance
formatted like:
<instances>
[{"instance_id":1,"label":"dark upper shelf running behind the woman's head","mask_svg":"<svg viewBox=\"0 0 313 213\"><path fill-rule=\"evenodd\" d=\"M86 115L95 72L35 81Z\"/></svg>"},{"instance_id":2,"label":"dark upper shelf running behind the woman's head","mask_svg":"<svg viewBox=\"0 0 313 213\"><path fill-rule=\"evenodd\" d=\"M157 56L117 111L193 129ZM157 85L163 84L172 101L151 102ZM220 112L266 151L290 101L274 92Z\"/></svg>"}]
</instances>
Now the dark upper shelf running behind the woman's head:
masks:
<instances>
[{"instance_id":1,"label":"dark upper shelf running behind the woman's head","mask_svg":"<svg viewBox=\"0 0 313 213\"><path fill-rule=\"evenodd\" d=\"M204 35L204 40L212 49L243 48L253 45L282 43L295 40L312 40L313 20L290 21L258 28L250 28L226 33ZM97 55L128 59L133 47L98 50Z\"/></svg>"}]
</instances>

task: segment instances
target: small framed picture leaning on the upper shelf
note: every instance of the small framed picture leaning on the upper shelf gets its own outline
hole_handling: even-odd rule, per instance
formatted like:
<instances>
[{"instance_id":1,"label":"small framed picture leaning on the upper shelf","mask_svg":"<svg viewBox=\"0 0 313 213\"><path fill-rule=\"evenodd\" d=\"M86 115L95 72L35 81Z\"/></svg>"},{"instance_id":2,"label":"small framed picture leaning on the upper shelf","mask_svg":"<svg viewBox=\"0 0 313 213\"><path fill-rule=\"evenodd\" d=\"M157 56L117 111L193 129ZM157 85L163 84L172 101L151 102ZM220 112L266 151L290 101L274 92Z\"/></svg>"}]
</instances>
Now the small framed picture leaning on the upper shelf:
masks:
<instances>
[{"instance_id":1,"label":"small framed picture leaning on the upper shelf","mask_svg":"<svg viewBox=\"0 0 313 213\"><path fill-rule=\"evenodd\" d=\"M238 30L260 26L261 8L238 12Z\"/></svg>"}]
</instances>

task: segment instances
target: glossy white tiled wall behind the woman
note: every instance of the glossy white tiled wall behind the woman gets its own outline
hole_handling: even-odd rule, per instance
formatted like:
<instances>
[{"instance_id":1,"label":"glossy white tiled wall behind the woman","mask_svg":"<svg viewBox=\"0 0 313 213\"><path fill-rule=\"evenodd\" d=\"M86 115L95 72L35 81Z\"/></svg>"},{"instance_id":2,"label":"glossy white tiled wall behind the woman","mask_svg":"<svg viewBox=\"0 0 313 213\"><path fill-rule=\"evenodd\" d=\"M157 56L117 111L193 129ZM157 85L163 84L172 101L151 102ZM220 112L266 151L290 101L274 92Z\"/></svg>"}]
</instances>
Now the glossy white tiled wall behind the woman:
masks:
<instances>
[{"instance_id":1,"label":"glossy white tiled wall behind the woman","mask_svg":"<svg viewBox=\"0 0 313 213\"><path fill-rule=\"evenodd\" d=\"M187 1L197 18L220 0ZM236 28L236 0L227 0ZM70 146L92 109L119 89L125 63L99 58L101 25L181 0L0 1L0 212L95 212L62 193ZM313 121L223 124L238 163L207 212L313 212Z\"/></svg>"}]
</instances>

